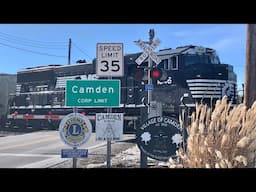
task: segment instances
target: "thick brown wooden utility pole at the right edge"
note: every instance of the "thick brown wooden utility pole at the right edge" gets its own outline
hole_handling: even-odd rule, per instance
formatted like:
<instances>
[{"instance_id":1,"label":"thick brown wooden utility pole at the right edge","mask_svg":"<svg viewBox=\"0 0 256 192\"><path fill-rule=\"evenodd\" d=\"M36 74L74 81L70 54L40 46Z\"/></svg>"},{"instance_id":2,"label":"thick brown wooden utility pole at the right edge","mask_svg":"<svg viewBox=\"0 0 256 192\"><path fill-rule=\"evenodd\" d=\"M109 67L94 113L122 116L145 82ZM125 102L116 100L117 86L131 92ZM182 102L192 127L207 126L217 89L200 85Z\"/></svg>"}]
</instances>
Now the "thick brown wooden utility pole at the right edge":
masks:
<instances>
[{"instance_id":1,"label":"thick brown wooden utility pole at the right edge","mask_svg":"<svg viewBox=\"0 0 256 192\"><path fill-rule=\"evenodd\" d=\"M244 103L250 108L256 100L256 24L247 25Z\"/></svg>"}]
</instances>

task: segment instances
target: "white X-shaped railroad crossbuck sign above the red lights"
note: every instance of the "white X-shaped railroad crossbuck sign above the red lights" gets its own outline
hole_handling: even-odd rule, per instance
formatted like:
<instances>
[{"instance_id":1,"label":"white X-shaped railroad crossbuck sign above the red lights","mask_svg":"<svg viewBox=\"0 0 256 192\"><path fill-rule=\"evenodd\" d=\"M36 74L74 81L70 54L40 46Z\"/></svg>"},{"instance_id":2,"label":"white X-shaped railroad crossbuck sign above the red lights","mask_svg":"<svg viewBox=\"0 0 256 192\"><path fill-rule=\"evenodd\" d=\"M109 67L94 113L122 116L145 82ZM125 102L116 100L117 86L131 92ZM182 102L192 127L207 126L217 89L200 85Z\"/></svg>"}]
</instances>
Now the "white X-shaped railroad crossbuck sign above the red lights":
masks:
<instances>
[{"instance_id":1,"label":"white X-shaped railroad crossbuck sign above the red lights","mask_svg":"<svg viewBox=\"0 0 256 192\"><path fill-rule=\"evenodd\" d=\"M161 62L161 59L153 52L153 50L160 44L160 40L156 39L149 46L146 45L141 40L135 42L144 52L135 60L135 62L140 65L148 56L158 65Z\"/></svg>"}]
</instances>

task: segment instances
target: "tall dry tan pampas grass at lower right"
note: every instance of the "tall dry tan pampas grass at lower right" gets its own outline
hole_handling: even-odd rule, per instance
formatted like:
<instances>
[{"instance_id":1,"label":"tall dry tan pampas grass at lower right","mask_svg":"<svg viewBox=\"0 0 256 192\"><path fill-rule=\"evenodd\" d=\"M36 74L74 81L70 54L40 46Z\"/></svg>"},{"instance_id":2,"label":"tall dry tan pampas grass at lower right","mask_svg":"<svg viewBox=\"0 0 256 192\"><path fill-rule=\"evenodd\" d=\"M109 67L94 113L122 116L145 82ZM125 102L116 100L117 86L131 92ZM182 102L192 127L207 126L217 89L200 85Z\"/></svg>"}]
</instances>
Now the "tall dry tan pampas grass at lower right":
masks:
<instances>
[{"instance_id":1,"label":"tall dry tan pampas grass at lower right","mask_svg":"<svg viewBox=\"0 0 256 192\"><path fill-rule=\"evenodd\" d=\"M244 104L232 107L226 97L214 111L197 105L187 132L186 148L177 151L179 167L255 167L256 102L248 110Z\"/></svg>"}]
</instances>

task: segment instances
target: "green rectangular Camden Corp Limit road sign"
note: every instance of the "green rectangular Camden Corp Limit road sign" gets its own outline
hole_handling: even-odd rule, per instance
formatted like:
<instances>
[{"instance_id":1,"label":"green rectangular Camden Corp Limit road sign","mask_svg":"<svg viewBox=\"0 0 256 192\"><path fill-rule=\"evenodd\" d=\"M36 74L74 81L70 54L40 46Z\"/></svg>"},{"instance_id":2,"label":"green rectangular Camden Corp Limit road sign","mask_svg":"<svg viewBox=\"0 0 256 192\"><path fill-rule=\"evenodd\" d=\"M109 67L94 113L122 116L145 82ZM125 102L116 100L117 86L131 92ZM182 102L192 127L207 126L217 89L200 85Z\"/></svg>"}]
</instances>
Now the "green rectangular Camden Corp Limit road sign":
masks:
<instances>
[{"instance_id":1,"label":"green rectangular Camden Corp Limit road sign","mask_svg":"<svg viewBox=\"0 0 256 192\"><path fill-rule=\"evenodd\" d=\"M120 80L67 80L66 106L119 107Z\"/></svg>"}]
</instances>

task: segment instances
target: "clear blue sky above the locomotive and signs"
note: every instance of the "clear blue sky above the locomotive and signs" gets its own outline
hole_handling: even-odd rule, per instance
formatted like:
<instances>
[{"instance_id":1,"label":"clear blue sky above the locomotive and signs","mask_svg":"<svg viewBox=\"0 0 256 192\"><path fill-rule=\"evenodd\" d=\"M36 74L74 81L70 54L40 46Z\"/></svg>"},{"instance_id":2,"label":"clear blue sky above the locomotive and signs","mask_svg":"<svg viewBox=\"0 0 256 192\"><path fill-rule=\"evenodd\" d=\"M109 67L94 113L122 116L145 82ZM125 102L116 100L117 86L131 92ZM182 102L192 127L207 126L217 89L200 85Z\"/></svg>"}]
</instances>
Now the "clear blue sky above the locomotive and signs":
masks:
<instances>
[{"instance_id":1,"label":"clear blue sky above the locomotive and signs","mask_svg":"<svg viewBox=\"0 0 256 192\"><path fill-rule=\"evenodd\" d=\"M96 57L97 43L124 43L124 53L140 52L134 41L148 40L149 29L161 43L156 50L201 45L217 51L222 63L232 64L238 87L244 82L246 24L0 24L0 73L68 63Z\"/></svg>"}]
</instances>

